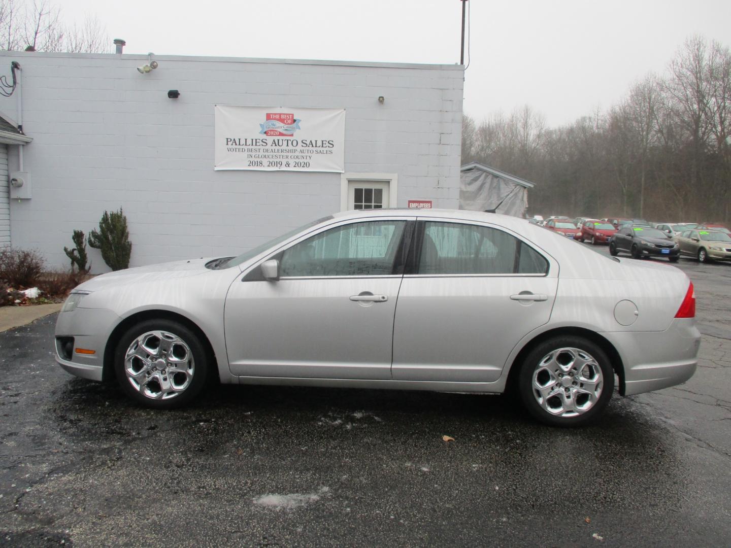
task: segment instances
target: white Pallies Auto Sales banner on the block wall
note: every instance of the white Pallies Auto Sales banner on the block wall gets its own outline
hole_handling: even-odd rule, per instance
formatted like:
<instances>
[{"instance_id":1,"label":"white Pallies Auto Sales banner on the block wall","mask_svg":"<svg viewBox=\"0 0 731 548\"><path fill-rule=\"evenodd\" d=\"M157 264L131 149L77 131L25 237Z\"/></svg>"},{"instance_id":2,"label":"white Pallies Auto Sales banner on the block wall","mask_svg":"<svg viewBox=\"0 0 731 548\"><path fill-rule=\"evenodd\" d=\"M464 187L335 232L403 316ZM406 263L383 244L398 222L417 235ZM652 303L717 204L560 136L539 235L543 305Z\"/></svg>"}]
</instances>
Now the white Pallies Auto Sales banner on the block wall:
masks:
<instances>
[{"instance_id":1,"label":"white Pallies Auto Sales banner on the block wall","mask_svg":"<svg viewBox=\"0 0 731 548\"><path fill-rule=\"evenodd\" d=\"M344 172L345 110L216 104L216 170Z\"/></svg>"}]
</instances>

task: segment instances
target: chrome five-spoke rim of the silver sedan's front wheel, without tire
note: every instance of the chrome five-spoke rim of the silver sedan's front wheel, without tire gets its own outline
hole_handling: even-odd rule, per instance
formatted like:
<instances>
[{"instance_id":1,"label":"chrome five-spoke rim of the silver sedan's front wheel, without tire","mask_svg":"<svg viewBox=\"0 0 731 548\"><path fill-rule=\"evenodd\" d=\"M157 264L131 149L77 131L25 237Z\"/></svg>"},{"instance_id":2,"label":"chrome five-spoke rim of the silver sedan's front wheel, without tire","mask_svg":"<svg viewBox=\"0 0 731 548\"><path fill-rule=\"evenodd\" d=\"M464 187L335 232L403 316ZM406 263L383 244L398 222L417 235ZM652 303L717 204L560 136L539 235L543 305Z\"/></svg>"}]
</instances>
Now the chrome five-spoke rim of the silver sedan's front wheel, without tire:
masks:
<instances>
[{"instance_id":1,"label":"chrome five-spoke rim of the silver sedan's front wheel, without tire","mask_svg":"<svg viewBox=\"0 0 731 548\"><path fill-rule=\"evenodd\" d=\"M124 355L124 373L137 392L169 400L188 388L195 364L190 347L178 335L148 331L135 338Z\"/></svg>"}]
</instances>

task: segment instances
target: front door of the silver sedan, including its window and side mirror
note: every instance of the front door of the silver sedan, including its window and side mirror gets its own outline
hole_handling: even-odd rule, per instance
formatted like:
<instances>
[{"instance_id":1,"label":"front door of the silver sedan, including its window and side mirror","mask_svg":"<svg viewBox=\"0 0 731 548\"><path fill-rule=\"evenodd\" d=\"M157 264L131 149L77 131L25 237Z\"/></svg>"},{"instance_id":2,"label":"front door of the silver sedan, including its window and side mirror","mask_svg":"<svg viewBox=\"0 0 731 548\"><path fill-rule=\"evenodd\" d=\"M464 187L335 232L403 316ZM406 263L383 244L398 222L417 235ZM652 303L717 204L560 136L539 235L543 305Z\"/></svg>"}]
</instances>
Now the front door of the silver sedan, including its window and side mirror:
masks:
<instances>
[{"instance_id":1,"label":"front door of the silver sedan, including its window and side mirror","mask_svg":"<svg viewBox=\"0 0 731 548\"><path fill-rule=\"evenodd\" d=\"M258 278L255 266L233 282L224 312L231 373L390 378L406 224L329 227L274 256L279 280Z\"/></svg>"}]
</instances>

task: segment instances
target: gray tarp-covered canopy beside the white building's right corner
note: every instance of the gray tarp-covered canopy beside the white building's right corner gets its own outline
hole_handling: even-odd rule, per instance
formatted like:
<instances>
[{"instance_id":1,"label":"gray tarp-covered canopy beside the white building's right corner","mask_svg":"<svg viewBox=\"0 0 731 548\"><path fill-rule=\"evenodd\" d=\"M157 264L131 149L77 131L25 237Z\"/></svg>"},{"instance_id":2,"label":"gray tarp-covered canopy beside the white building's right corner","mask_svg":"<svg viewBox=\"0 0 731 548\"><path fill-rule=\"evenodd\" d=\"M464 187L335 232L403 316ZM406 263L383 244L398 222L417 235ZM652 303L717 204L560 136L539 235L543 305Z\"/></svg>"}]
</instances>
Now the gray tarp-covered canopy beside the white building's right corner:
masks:
<instances>
[{"instance_id":1,"label":"gray tarp-covered canopy beside the white building's right corner","mask_svg":"<svg viewBox=\"0 0 731 548\"><path fill-rule=\"evenodd\" d=\"M534 186L515 175L473 161L461 168L459 208L525 217L528 189Z\"/></svg>"}]
</instances>

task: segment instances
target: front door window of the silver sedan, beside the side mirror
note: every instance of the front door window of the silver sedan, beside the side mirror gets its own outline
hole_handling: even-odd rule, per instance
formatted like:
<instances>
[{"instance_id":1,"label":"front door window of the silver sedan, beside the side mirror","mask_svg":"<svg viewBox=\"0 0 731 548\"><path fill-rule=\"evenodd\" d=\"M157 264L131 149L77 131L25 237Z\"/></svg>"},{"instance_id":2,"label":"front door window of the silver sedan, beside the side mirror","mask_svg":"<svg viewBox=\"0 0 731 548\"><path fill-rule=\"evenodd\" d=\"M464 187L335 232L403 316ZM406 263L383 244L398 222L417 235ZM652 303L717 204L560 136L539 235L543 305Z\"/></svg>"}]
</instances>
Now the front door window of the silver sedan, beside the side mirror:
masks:
<instances>
[{"instance_id":1,"label":"front door window of the silver sedan, beside the side mirror","mask_svg":"<svg viewBox=\"0 0 731 548\"><path fill-rule=\"evenodd\" d=\"M390 275L406 221L366 221L335 227L295 244L280 259L280 275Z\"/></svg>"}]
</instances>

